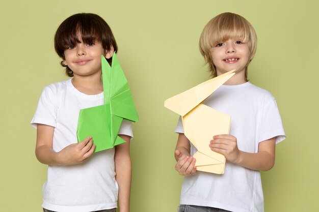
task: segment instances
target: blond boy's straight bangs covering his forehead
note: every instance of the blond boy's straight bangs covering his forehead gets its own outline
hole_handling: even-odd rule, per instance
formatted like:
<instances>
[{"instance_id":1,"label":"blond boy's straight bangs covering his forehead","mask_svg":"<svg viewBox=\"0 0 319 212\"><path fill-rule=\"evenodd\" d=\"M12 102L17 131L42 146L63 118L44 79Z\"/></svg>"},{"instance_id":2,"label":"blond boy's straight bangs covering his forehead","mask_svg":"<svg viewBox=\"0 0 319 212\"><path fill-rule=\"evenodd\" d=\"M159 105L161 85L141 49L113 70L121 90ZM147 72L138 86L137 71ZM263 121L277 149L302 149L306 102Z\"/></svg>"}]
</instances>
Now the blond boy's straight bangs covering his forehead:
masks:
<instances>
[{"instance_id":1,"label":"blond boy's straight bangs covering his forehead","mask_svg":"<svg viewBox=\"0 0 319 212\"><path fill-rule=\"evenodd\" d=\"M208 36L210 47L229 39L241 39L244 43L248 42L250 37L249 26L242 19L235 16L216 21L218 23L214 23L215 27L210 28L210 35Z\"/></svg>"}]
</instances>

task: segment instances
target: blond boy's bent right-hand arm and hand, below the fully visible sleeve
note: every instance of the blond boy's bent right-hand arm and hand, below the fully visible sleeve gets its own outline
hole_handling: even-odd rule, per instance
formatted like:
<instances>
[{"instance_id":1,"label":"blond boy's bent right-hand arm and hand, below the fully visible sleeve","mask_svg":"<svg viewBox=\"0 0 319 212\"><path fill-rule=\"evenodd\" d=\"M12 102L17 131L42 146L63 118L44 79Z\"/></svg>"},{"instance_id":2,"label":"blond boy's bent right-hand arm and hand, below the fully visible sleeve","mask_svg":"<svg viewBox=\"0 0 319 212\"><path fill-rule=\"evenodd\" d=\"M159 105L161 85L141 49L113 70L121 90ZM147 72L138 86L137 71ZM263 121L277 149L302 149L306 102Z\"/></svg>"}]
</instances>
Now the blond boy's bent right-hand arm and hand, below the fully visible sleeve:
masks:
<instances>
[{"instance_id":1,"label":"blond boy's bent right-hand arm and hand, below the fully visible sleeve","mask_svg":"<svg viewBox=\"0 0 319 212\"><path fill-rule=\"evenodd\" d=\"M217 135L210 141L211 150L221 153L225 158L237 165L258 170L268 171L275 164L276 137L262 141L258 153L246 153L238 149L237 139L232 135Z\"/></svg>"}]
</instances>

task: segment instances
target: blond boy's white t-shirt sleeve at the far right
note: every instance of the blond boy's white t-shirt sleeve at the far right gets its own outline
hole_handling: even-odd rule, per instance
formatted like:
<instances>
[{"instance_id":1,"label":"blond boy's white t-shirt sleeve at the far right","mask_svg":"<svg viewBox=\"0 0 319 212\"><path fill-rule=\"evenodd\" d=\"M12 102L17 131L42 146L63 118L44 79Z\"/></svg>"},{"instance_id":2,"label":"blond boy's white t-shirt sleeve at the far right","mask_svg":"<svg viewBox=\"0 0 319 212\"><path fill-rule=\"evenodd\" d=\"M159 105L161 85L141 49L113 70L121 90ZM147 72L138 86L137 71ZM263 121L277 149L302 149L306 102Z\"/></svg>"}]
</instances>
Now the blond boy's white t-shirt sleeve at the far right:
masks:
<instances>
[{"instance_id":1,"label":"blond boy's white t-shirt sleeve at the far right","mask_svg":"<svg viewBox=\"0 0 319 212\"><path fill-rule=\"evenodd\" d=\"M258 142L276 137L276 144L286 138L276 100L265 104Z\"/></svg>"}]
</instances>

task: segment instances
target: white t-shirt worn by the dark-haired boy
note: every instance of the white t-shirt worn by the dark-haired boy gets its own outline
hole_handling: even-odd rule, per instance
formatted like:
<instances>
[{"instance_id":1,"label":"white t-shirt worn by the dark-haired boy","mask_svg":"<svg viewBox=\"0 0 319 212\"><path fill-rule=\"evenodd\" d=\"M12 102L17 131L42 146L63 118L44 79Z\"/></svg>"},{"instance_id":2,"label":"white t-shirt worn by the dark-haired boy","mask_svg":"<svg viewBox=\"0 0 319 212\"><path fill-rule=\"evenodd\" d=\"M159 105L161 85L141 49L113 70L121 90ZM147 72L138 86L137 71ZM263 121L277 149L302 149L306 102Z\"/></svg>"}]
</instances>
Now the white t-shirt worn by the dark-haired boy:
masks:
<instances>
[{"instance_id":1,"label":"white t-shirt worn by the dark-haired boy","mask_svg":"<svg viewBox=\"0 0 319 212\"><path fill-rule=\"evenodd\" d=\"M55 127L52 148L59 152L77 143L76 128L80 109L104 104L103 93L86 95L70 80L44 87L33 127ZM123 120L119 134L133 137L131 122ZM94 153L84 163L48 166L43 185L42 207L59 212L87 212L117 207L118 185L115 180L114 148Z\"/></svg>"}]
</instances>

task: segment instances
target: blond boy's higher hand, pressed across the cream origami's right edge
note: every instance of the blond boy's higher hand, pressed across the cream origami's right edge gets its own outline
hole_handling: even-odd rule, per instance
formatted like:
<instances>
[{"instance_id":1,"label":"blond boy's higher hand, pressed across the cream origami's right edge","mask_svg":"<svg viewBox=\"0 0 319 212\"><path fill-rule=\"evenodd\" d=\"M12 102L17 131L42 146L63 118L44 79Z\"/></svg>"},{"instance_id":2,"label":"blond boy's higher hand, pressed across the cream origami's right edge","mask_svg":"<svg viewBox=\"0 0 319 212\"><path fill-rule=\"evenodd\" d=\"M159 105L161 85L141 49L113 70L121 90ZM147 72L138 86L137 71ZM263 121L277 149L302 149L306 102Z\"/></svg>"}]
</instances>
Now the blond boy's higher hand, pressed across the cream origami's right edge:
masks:
<instances>
[{"instance_id":1,"label":"blond boy's higher hand, pressed across the cream origami's right edge","mask_svg":"<svg viewBox=\"0 0 319 212\"><path fill-rule=\"evenodd\" d=\"M224 155L226 160L235 163L240 155L240 150L237 147L237 138L224 134L216 135L213 139L209 144L210 149Z\"/></svg>"}]
</instances>

